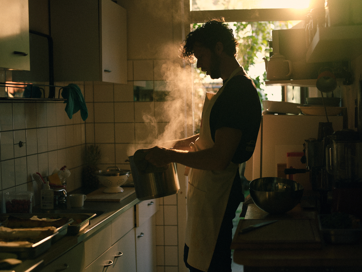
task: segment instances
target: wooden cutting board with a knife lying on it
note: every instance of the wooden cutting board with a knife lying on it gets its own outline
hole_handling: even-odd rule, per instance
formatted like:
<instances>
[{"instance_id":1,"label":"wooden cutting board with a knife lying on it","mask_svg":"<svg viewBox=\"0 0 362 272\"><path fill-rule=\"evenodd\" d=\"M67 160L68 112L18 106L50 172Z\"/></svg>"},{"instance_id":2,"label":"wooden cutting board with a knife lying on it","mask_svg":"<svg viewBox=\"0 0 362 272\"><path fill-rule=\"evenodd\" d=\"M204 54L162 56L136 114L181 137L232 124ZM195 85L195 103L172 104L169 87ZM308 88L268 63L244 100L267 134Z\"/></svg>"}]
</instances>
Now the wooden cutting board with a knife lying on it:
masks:
<instances>
[{"instance_id":1,"label":"wooden cutting board with a knife lying on it","mask_svg":"<svg viewBox=\"0 0 362 272\"><path fill-rule=\"evenodd\" d=\"M321 248L321 238L314 219L279 219L244 234L239 231L264 219L241 219L231 249L307 249Z\"/></svg>"}]
</instances>

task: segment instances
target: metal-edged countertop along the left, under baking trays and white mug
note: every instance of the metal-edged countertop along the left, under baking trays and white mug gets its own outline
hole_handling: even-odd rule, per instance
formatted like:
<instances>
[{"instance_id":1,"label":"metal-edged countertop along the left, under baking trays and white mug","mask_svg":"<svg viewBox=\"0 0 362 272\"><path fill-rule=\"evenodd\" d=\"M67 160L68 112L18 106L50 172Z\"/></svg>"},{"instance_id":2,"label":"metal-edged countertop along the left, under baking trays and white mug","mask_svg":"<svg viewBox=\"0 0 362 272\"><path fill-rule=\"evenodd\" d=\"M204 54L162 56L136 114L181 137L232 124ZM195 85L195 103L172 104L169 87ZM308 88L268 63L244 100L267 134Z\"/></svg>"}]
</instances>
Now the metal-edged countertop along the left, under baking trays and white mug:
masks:
<instances>
[{"instance_id":1,"label":"metal-edged countertop along the left, under baking trays and white mug","mask_svg":"<svg viewBox=\"0 0 362 272\"><path fill-rule=\"evenodd\" d=\"M134 189L133 189L134 190ZM126 210L132 208L140 201L136 197L136 193L132 193L120 202L93 202L85 201L84 206L76 208L77 210L83 209L85 213L89 210L103 211L102 214L90 220L90 224L82 232L75 236L64 236L57 242L51 245L49 250L44 252L32 260L23 260L23 262L13 268L15 272L31 272L38 271L42 267L51 263L65 252L75 247L78 243L87 239L89 236L100 230L106 224L111 222L112 219L118 217ZM72 213L72 208L68 208L67 212ZM10 270L11 271L11 270Z\"/></svg>"}]
</instances>

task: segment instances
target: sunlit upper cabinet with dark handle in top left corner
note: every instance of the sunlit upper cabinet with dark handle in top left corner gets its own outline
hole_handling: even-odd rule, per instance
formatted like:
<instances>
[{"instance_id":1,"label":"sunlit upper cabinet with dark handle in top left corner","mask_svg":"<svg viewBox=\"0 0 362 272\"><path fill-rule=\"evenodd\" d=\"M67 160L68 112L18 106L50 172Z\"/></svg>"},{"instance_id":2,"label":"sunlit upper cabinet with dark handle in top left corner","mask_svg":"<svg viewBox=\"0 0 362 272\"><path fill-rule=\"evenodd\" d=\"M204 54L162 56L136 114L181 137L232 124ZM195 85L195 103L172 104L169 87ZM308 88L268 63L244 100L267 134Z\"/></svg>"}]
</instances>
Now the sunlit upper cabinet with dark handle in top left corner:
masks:
<instances>
[{"instance_id":1,"label":"sunlit upper cabinet with dark handle in top left corner","mask_svg":"<svg viewBox=\"0 0 362 272\"><path fill-rule=\"evenodd\" d=\"M28 0L0 0L0 67L30 70Z\"/></svg>"}]
</instances>

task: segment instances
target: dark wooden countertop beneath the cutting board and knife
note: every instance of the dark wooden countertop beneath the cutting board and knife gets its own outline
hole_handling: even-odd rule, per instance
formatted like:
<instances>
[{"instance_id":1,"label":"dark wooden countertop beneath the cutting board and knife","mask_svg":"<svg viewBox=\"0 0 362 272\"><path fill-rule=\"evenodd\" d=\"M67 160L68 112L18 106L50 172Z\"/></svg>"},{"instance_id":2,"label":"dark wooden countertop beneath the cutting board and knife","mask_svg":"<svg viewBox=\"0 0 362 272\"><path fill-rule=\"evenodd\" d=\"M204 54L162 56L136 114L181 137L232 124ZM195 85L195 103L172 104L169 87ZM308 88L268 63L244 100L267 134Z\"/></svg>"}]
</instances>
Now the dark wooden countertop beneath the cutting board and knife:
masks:
<instances>
[{"instance_id":1,"label":"dark wooden countertop beneath the cutting board and knife","mask_svg":"<svg viewBox=\"0 0 362 272\"><path fill-rule=\"evenodd\" d=\"M316 219L317 213L303 209L300 204L283 215L271 215L255 204L249 204L245 219ZM241 224L241 220L239 221ZM316 249L253 249L234 251L233 260L244 265L244 271L361 271L362 246L358 244L328 244L322 239ZM322 269L323 268L323 269ZM322 269L322 270L321 270ZM357 270L356 270L357 269ZM331 270L332 271L332 270Z\"/></svg>"}]
</instances>

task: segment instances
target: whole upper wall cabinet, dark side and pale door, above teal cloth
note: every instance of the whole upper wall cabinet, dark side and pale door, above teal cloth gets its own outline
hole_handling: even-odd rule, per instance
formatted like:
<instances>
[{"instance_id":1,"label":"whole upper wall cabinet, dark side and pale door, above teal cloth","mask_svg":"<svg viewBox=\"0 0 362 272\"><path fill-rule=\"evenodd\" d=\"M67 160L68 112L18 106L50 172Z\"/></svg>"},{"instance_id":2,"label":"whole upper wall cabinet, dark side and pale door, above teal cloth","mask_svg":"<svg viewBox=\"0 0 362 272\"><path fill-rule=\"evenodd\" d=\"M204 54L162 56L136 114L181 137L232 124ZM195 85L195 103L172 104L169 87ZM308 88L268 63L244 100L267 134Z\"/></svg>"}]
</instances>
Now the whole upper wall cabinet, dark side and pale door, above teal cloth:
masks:
<instances>
[{"instance_id":1,"label":"whole upper wall cabinet, dark side and pale door, above teal cloth","mask_svg":"<svg viewBox=\"0 0 362 272\"><path fill-rule=\"evenodd\" d=\"M126 9L111 0L50 0L54 79L127 84Z\"/></svg>"}]
</instances>

